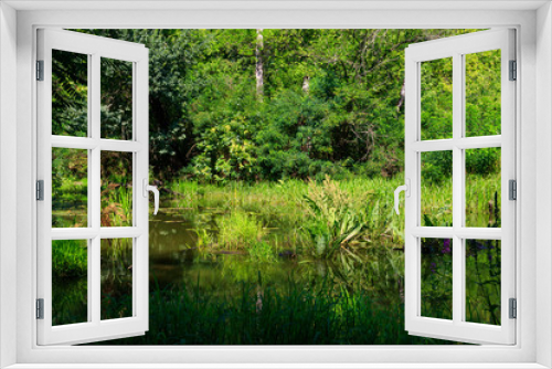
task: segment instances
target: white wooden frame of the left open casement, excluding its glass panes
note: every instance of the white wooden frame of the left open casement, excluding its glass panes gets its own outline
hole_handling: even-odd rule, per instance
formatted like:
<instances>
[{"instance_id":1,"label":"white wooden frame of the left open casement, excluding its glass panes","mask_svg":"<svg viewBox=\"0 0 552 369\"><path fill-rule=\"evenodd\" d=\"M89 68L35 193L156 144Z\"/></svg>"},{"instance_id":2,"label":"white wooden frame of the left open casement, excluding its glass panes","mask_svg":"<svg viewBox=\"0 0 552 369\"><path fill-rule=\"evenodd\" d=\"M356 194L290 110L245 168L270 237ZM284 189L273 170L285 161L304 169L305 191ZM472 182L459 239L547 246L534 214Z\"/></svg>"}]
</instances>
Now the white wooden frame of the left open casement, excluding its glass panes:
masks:
<instances>
[{"instance_id":1,"label":"white wooden frame of the left open casement, excluding its glass panes","mask_svg":"<svg viewBox=\"0 0 552 369\"><path fill-rule=\"evenodd\" d=\"M52 135L52 50L88 55L88 137ZM132 63L132 140L100 138L100 60ZM44 201L38 202L38 298L44 318L38 319L39 345L71 345L141 335L148 330L148 50L130 42L77 32L38 31L38 59L44 61L44 81L38 89L38 179L44 180ZM88 222L86 228L52 229L52 148L85 149L88 156ZM100 152L132 152L132 226L100 225ZM100 318L100 240L132 239L132 315ZM87 323L52 326L52 241L86 240L88 244Z\"/></svg>"}]
</instances>

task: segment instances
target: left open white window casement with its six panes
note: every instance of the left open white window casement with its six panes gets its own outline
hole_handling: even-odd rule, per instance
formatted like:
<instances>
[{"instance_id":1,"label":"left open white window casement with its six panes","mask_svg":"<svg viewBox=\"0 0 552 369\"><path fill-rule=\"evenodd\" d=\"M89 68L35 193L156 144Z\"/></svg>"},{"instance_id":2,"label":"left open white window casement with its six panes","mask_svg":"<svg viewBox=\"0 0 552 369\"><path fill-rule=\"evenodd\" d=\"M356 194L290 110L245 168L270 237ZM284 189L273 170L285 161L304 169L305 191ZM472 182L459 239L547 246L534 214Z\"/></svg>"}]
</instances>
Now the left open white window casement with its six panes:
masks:
<instances>
[{"instance_id":1,"label":"left open white window casement with its six panes","mask_svg":"<svg viewBox=\"0 0 552 369\"><path fill-rule=\"evenodd\" d=\"M38 34L38 179L42 201L38 201L38 325L39 345L79 344L112 338L141 335L148 330L148 50L140 44L121 42L99 36L62 31L39 30ZM81 55L85 74L87 72L87 117L79 131L66 135L52 125L52 80L54 53ZM102 99L106 92L102 89L104 62L123 61L128 63L127 73L130 119L127 130L130 134L109 134L104 129ZM60 76L57 76L60 77ZM109 92L107 92L109 93ZM107 96L109 97L109 96ZM130 99L130 102L128 102ZM119 118L120 119L120 118ZM119 122L120 124L120 122ZM84 136L84 137L78 137ZM128 139L125 139L128 136ZM115 137L116 139L113 139ZM59 149L82 152L87 161L87 217L81 224L59 225L52 221L52 157ZM112 189L108 183L102 191L102 172L109 171L114 160L107 157L129 158L129 191L131 192L130 219L126 224L109 226L102 222L102 204ZM113 186L121 186L114 183ZM105 212L104 212L105 215ZM123 225L123 226L120 226ZM54 296L52 285L52 252L61 247L60 241L79 242L87 251L87 317L78 321L53 321ZM129 247L129 272L131 287L128 309L124 316L108 316L103 312L102 280L108 273L103 271L102 259ZM84 320L84 321L83 321Z\"/></svg>"}]
</instances>

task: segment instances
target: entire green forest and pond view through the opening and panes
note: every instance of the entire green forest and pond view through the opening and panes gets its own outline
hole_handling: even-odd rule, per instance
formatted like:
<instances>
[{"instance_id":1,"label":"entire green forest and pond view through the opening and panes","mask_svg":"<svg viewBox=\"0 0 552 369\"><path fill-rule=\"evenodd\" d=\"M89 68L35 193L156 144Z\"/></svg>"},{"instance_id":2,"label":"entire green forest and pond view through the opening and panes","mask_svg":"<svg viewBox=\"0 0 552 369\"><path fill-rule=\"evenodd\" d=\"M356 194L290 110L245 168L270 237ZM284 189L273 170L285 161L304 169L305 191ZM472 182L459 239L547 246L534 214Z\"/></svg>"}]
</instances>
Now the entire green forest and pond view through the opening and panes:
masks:
<instances>
[{"instance_id":1,"label":"entire green forest and pond view through the opening and panes","mask_svg":"<svg viewBox=\"0 0 552 369\"><path fill-rule=\"evenodd\" d=\"M117 344L444 342L404 331L404 50L478 30L77 31L149 49L150 330ZM54 135L88 135L87 63L54 53ZM500 52L465 63L466 136L500 135ZM103 138L132 137L131 71L102 60ZM452 60L421 76L421 138L452 138ZM131 160L102 152L103 226L131 224ZM423 225L449 226L452 151L421 160ZM86 166L53 149L53 226L87 226ZM467 225L500 226L500 148L466 150L466 187ZM56 242L54 323L84 321L85 245ZM468 319L499 325L500 242L468 246ZM102 247L103 317L129 316L131 242ZM450 250L422 240L425 316L452 316Z\"/></svg>"}]
</instances>

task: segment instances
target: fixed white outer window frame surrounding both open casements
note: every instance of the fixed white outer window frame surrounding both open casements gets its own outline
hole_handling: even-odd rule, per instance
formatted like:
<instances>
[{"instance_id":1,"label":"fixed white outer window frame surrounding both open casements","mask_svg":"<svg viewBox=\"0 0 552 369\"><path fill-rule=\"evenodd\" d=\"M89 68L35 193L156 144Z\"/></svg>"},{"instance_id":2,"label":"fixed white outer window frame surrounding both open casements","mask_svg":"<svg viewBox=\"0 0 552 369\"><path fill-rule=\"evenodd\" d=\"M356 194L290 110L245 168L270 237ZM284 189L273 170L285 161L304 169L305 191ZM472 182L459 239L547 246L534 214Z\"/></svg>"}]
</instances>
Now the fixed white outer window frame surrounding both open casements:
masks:
<instances>
[{"instance_id":1,"label":"fixed white outer window frame surrounding both open casements","mask_svg":"<svg viewBox=\"0 0 552 369\"><path fill-rule=\"evenodd\" d=\"M552 367L552 12L549 1L337 2L73 2L0 3L0 365L159 368L161 363L234 363L386 368ZM15 11L12 7L19 8ZM158 11L137 8L158 9ZM164 7L166 10L161 10ZM176 9L179 8L180 9ZM216 7L224 7L220 9ZM310 7L310 9L309 9ZM471 8L470 8L471 7ZM28 10L24 10L24 9ZM66 9L74 8L74 9ZM96 8L96 9L94 9ZM110 9L107 9L110 8ZM119 10L114 10L118 8ZM294 8L299 8L297 10ZM439 8L439 10L432 10ZM29 10L35 9L35 10ZM83 10L87 9L87 10ZM94 10L91 10L94 9ZM199 10L198 10L199 9ZM248 10L243 10L248 9ZM388 10L385 10L388 9ZM444 10L445 9L445 10ZM486 10L481 10L486 9ZM52 11L53 10L53 11ZM537 27L535 27L537 25ZM517 150L519 202L517 260L518 339L514 346L478 347L39 347L34 320L36 133L33 71L35 34L63 28L493 28L518 30ZM14 42L17 35L17 43ZM15 66L17 61L17 66ZM539 72L537 78L535 72ZM17 73L17 80L14 76ZM17 92L17 96L13 93ZM17 125L14 124L17 122ZM537 134L539 133L539 134ZM10 140L17 141L15 145ZM17 149L17 164L13 150ZM11 157L10 157L11 156ZM535 165L539 166L537 170ZM13 183L13 176L17 182ZM535 182L535 180L538 181ZM539 192L539 201L537 201ZM17 193L17 197L13 197ZM10 208L7 207L11 205ZM17 219L13 220L13 209ZM535 225L537 224L537 225ZM13 234L10 228L15 226ZM539 241L539 242L538 242ZM13 243L11 243L13 242ZM14 250L13 245L17 245ZM15 264L17 263L17 264ZM15 267L17 266L17 267ZM31 286L31 288L30 288ZM17 319L13 319L17 316ZM538 324L537 324L538 321ZM17 337L13 339L13 337ZM157 363L151 363L152 361ZM134 363L134 365L132 365ZM151 363L151 365L146 365ZM244 363L244 365L240 365ZM385 363L385 365L384 365ZM395 365L392 365L395 363ZM120 368L119 366L119 368ZM199 365L198 365L199 366ZM51 367L51 366L50 366ZM62 365L56 367L63 367ZM180 367L187 367L182 363ZM204 366L205 367L205 366ZM206 366L209 367L209 366Z\"/></svg>"}]
</instances>

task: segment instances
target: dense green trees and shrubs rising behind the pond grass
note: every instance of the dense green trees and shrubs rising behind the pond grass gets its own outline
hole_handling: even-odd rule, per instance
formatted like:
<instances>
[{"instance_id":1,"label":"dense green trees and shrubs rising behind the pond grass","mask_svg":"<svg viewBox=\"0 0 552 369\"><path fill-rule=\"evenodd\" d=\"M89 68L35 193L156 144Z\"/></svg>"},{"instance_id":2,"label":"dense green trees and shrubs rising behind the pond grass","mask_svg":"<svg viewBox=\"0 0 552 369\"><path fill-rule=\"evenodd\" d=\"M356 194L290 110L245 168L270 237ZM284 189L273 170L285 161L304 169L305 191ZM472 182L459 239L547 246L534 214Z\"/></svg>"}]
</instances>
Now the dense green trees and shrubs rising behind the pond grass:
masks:
<instances>
[{"instance_id":1,"label":"dense green trees and shrubs rising behind the pond grass","mask_svg":"<svg viewBox=\"0 0 552 369\"><path fill-rule=\"evenodd\" d=\"M390 177L401 171L405 48L474 30L81 31L149 49L150 164L156 178L226 182L348 173ZM54 59L61 72L54 73L57 131L86 135L82 126L75 133L86 117L85 62L78 55ZM497 134L500 84L488 71L500 59L481 53L466 63L467 129ZM444 60L422 66L424 138L452 134L449 64ZM109 130L114 119L128 126L128 106L118 102L128 96L120 87L128 68L107 60L103 70L103 129ZM474 170L488 171L497 160L497 155L476 158L486 167ZM437 167L437 176L447 171L448 164L438 156L429 165Z\"/></svg>"}]
</instances>

